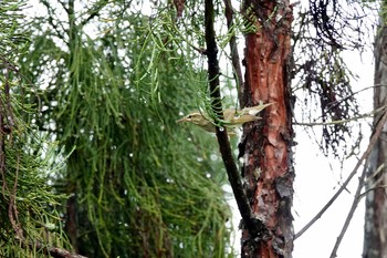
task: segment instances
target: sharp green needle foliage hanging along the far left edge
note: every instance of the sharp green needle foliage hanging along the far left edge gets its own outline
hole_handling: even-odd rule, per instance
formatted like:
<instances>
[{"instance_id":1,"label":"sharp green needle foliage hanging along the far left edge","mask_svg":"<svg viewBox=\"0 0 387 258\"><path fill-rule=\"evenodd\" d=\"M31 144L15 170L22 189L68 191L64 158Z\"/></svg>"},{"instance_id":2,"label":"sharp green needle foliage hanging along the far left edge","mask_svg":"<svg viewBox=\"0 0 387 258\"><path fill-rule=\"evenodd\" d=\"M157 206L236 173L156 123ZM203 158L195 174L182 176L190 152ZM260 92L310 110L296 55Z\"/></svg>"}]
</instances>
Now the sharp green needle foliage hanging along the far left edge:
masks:
<instances>
[{"instance_id":1,"label":"sharp green needle foliage hanging along the far left edge","mask_svg":"<svg viewBox=\"0 0 387 258\"><path fill-rule=\"evenodd\" d=\"M50 246L69 246L56 210L63 196L48 184L59 169L52 163L53 146L25 123L35 109L27 101L34 87L17 64L29 44L20 24L23 8L21 1L0 3L1 257L40 257Z\"/></svg>"}]
</instances>

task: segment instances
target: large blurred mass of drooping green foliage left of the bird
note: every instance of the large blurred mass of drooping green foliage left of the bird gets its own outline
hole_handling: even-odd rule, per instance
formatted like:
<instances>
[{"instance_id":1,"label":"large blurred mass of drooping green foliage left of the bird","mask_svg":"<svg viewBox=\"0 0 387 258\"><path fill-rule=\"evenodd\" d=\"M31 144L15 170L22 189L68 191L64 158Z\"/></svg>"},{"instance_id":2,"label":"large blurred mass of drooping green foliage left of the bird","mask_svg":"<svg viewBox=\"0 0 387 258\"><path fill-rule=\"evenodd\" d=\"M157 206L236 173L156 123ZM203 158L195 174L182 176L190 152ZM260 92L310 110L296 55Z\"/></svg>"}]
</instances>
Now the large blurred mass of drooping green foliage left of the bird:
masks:
<instances>
[{"instance_id":1,"label":"large blurred mass of drooping green foliage left of the bird","mask_svg":"<svg viewBox=\"0 0 387 258\"><path fill-rule=\"evenodd\" d=\"M52 180L69 196L63 219L75 250L224 257L230 211L215 138L176 125L206 73L168 34L169 9L155 19L119 1L82 10L41 2L48 14L32 22L22 69L39 85L31 123L69 154Z\"/></svg>"}]
</instances>

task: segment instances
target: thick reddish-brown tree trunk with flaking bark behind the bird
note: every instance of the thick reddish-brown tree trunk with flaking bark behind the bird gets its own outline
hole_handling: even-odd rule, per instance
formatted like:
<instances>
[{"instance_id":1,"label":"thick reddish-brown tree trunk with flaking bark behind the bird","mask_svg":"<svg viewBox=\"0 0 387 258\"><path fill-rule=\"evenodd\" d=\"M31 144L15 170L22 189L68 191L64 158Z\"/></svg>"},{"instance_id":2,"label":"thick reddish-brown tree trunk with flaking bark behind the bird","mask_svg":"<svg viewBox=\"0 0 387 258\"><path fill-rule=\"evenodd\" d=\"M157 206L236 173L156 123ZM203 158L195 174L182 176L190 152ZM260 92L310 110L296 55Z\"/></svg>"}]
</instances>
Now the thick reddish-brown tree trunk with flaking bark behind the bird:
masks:
<instances>
[{"instance_id":1,"label":"thick reddish-brown tree trunk with flaking bark behind the bird","mask_svg":"<svg viewBox=\"0 0 387 258\"><path fill-rule=\"evenodd\" d=\"M276 6L275 6L276 4ZM289 1L253 1L244 6L258 30L245 38L244 105L274 103L262 121L244 126L240 156L242 176L253 217L265 233L242 233L242 257L291 257L293 200L291 94L289 58L292 10Z\"/></svg>"}]
</instances>

